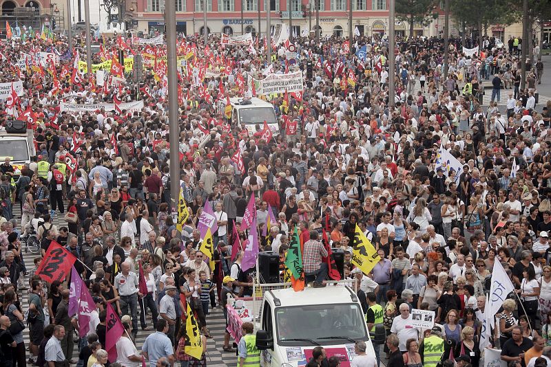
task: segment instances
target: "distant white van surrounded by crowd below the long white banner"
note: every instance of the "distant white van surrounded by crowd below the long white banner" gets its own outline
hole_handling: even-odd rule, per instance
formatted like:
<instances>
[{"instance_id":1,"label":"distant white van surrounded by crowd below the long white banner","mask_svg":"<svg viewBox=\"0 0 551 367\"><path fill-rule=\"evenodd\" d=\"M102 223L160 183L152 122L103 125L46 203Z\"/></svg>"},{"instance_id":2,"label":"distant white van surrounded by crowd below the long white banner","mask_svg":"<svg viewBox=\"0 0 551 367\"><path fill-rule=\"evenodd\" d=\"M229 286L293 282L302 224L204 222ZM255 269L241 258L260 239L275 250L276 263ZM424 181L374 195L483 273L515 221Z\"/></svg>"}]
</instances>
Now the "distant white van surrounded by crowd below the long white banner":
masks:
<instances>
[{"instance_id":1,"label":"distant white van surrounded by crowd below the long white banner","mask_svg":"<svg viewBox=\"0 0 551 367\"><path fill-rule=\"evenodd\" d=\"M245 124L249 136L252 136L256 133L256 125L262 130L266 121L273 136L279 135L280 126L271 103L260 98L230 98L229 102L232 107L231 124L233 126L240 127Z\"/></svg>"}]
</instances>

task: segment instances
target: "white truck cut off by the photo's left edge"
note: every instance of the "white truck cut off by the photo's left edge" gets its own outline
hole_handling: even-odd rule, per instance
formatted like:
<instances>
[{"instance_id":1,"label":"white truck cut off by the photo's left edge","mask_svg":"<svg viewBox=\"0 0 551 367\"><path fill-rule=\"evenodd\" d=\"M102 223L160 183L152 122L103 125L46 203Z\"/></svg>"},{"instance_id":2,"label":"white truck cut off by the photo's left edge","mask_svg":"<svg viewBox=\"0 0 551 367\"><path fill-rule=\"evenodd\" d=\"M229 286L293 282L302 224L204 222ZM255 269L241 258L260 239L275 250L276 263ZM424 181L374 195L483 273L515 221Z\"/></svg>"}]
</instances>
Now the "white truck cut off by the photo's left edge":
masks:
<instances>
[{"instance_id":1,"label":"white truck cut off by the photo's left edge","mask_svg":"<svg viewBox=\"0 0 551 367\"><path fill-rule=\"evenodd\" d=\"M21 168L30 163L31 157L37 155L34 148L34 135L32 130L28 129L26 133L8 133L5 130L0 131L0 163L10 158L10 163L14 168L14 179L21 175Z\"/></svg>"}]
</instances>

